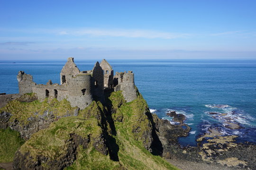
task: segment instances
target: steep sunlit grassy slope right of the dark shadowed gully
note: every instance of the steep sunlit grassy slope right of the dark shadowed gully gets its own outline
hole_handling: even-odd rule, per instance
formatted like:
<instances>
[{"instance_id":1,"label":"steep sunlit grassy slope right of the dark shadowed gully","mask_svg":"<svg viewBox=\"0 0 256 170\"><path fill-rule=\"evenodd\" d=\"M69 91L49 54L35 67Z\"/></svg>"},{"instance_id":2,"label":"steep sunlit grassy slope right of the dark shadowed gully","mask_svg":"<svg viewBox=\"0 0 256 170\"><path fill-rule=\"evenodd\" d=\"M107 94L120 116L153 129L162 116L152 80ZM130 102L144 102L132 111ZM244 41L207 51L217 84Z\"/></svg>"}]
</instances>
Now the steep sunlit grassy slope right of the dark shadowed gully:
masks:
<instances>
[{"instance_id":1,"label":"steep sunlit grassy slope right of the dark shadowed gully","mask_svg":"<svg viewBox=\"0 0 256 170\"><path fill-rule=\"evenodd\" d=\"M112 93L110 100L119 100L121 92ZM114 96L113 96L114 95ZM115 96L116 95L116 96ZM145 111L148 109L146 101L138 94L136 100L121 105L119 108L123 114L123 122L115 121L119 143L119 161L129 170L177 170L160 156L154 156L143 146L142 142L135 140L132 128L140 124L141 133L147 130L149 121L146 119ZM143 121L140 121L143 120Z\"/></svg>"}]
</instances>

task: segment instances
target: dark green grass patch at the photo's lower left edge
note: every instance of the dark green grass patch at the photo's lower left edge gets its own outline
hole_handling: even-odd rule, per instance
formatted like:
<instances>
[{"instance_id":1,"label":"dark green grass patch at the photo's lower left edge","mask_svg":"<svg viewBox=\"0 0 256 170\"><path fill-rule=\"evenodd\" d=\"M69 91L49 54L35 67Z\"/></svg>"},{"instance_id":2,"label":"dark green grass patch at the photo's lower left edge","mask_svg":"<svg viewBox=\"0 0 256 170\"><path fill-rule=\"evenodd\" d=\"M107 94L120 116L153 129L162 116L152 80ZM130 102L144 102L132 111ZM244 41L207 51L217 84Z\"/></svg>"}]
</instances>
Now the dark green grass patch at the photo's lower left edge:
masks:
<instances>
[{"instance_id":1,"label":"dark green grass patch at the photo's lower left edge","mask_svg":"<svg viewBox=\"0 0 256 170\"><path fill-rule=\"evenodd\" d=\"M0 162L13 161L15 152L24 142L18 132L10 128L0 129Z\"/></svg>"}]
</instances>

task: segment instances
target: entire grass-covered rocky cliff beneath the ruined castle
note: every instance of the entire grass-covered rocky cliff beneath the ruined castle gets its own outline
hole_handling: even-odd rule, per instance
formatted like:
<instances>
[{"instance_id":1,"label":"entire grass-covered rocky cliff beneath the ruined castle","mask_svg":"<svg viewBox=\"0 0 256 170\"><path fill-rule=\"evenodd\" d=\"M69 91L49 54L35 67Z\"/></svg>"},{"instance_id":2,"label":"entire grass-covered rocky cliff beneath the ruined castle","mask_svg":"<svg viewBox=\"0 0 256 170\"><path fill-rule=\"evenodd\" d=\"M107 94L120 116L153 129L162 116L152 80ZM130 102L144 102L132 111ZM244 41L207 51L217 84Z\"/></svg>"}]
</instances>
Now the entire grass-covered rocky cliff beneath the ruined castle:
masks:
<instances>
[{"instance_id":1,"label":"entire grass-covered rocky cliff beneath the ruined castle","mask_svg":"<svg viewBox=\"0 0 256 170\"><path fill-rule=\"evenodd\" d=\"M38 102L25 95L0 109L1 128L27 140L15 153L15 170L177 169L162 158L167 139L159 135L175 125L152 115L138 91L132 102L122 91L106 93L104 105L93 101L84 110L65 99ZM174 143L189 131L175 129L183 133L168 136Z\"/></svg>"}]
</instances>

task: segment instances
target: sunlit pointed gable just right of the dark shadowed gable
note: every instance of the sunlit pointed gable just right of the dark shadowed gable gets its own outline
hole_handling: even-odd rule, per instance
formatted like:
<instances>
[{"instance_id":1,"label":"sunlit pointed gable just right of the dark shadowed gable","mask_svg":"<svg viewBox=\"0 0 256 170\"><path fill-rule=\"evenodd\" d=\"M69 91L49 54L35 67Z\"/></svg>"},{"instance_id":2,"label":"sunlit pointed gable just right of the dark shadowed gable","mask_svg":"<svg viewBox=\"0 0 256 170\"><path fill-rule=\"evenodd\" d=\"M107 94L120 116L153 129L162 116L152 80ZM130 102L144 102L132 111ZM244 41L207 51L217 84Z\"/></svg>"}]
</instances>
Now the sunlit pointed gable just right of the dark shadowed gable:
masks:
<instances>
[{"instance_id":1,"label":"sunlit pointed gable just right of the dark shadowed gable","mask_svg":"<svg viewBox=\"0 0 256 170\"><path fill-rule=\"evenodd\" d=\"M104 73L104 88L113 88L113 76L114 71L108 61L106 59L102 59L101 61L101 68L103 69Z\"/></svg>"}]
</instances>

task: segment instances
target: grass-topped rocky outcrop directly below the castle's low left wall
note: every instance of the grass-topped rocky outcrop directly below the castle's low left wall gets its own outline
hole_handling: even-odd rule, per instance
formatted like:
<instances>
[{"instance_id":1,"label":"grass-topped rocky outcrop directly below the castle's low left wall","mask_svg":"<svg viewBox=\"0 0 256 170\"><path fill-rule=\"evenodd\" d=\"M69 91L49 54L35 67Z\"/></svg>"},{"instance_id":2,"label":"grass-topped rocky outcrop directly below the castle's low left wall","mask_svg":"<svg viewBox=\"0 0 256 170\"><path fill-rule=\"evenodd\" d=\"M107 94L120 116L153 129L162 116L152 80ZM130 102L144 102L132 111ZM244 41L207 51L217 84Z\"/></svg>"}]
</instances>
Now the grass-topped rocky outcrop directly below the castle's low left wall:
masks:
<instances>
[{"instance_id":1,"label":"grass-topped rocky outcrop directly below the castle's low left wall","mask_svg":"<svg viewBox=\"0 0 256 170\"><path fill-rule=\"evenodd\" d=\"M34 93L24 94L20 98L25 100L29 96L33 98ZM57 119L77 115L78 111L77 107L71 107L65 99L62 101L46 99L43 102L38 100L20 102L20 100L10 101L5 107L0 108L0 128L10 127L18 131L26 140Z\"/></svg>"}]
</instances>

